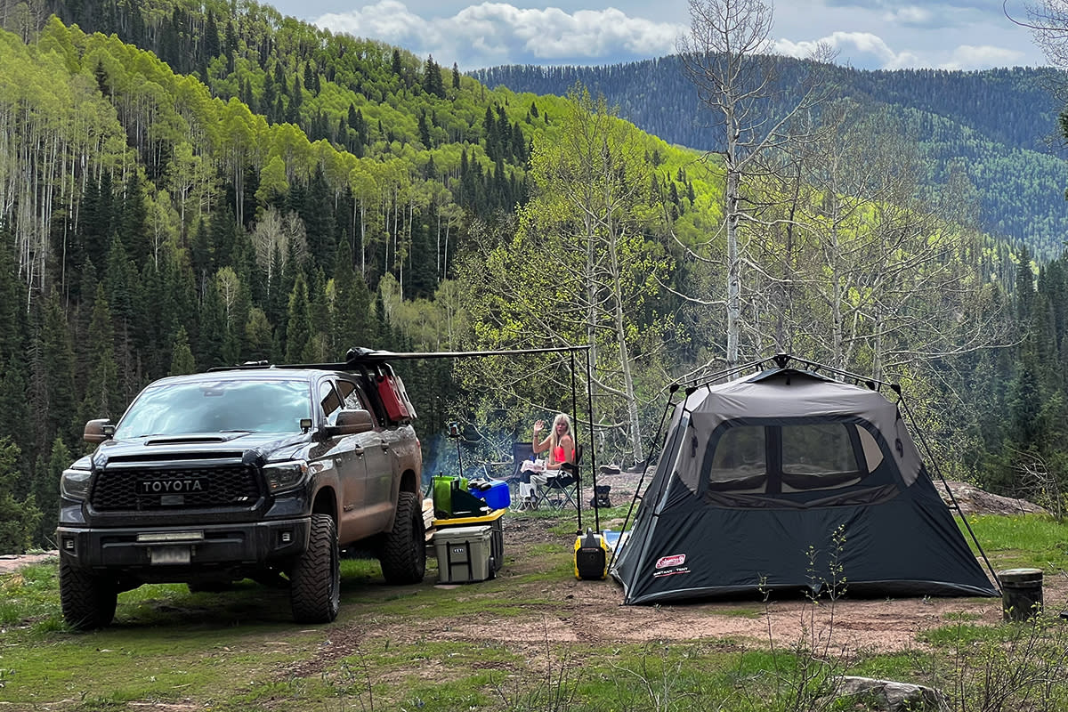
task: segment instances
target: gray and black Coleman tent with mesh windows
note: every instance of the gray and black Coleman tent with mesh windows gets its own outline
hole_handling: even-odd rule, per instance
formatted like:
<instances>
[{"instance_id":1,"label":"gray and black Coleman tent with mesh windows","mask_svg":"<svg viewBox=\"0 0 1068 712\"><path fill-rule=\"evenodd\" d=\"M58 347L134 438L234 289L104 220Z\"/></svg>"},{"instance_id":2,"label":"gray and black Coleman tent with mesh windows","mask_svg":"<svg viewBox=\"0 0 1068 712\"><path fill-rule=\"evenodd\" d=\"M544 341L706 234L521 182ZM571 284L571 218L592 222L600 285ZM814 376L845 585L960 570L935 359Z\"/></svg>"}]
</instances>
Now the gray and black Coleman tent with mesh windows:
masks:
<instances>
[{"instance_id":1,"label":"gray and black Coleman tent with mesh windows","mask_svg":"<svg viewBox=\"0 0 1068 712\"><path fill-rule=\"evenodd\" d=\"M897 405L776 367L689 391L612 566L625 603L826 587L998 596Z\"/></svg>"}]
</instances>

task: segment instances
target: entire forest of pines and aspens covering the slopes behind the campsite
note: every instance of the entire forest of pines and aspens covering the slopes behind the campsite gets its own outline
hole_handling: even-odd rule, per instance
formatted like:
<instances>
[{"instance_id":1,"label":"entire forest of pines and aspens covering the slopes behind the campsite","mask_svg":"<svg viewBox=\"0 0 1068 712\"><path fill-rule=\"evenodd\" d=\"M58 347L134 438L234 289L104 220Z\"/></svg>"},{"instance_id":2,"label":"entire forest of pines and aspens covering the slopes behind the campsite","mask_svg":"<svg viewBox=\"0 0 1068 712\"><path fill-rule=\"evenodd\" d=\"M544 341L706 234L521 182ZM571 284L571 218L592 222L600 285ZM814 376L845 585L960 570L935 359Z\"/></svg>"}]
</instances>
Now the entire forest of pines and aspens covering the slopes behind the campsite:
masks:
<instances>
[{"instance_id":1,"label":"entire forest of pines and aspens covering the slopes behind the campsite","mask_svg":"<svg viewBox=\"0 0 1068 712\"><path fill-rule=\"evenodd\" d=\"M588 347L399 365L424 477L450 423L499 461L560 410L599 462L655 458L672 384L789 352L899 382L947 476L1065 504L1068 175L1022 147L1059 109L1019 76L983 84L994 140L945 98L976 77L752 56L790 91L741 106L695 48L628 68L704 88L645 123L592 74L469 76L251 0L0 23L0 553L53 545L85 422L150 381L356 346Z\"/></svg>"}]
</instances>

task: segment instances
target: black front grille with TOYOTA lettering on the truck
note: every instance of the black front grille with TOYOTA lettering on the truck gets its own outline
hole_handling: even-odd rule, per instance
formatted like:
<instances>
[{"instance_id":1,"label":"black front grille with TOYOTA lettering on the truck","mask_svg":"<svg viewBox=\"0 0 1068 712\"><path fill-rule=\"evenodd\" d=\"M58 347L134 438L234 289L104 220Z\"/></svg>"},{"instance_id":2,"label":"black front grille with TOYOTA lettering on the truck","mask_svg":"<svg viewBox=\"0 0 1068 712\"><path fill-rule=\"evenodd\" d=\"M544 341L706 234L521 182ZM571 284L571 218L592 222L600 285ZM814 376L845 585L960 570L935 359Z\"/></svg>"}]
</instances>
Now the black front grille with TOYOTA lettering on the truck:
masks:
<instances>
[{"instance_id":1,"label":"black front grille with TOYOTA lettering on the truck","mask_svg":"<svg viewBox=\"0 0 1068 712\"><path fill-rule=\"evenodd\" d=\"M90 502L97 511L251 507L261 496L256 469L121 468L97 473Z\"/></svg>"}]
</instances>

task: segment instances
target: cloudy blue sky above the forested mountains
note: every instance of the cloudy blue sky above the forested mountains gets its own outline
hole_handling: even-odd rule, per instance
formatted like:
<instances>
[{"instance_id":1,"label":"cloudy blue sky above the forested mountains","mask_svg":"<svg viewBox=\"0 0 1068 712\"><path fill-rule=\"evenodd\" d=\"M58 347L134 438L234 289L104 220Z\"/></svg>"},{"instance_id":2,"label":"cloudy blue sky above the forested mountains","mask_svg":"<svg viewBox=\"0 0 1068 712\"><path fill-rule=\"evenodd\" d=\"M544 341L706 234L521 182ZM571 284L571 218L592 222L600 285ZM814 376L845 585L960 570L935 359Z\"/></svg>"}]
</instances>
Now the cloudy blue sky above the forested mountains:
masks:
<instances>
[{"instance_id":1,"label":"cloudy blue sky above the forested mountains","mask_svg":"<svg viewBox=\"0 0 1068 712\"><path fill-rule=\"evenodd\" d=\"M1025 19L1024 0L1007 9ZM497 64L614 64L670 54L689 29L686 0L266 0L285 15L468 70ZM815 43L861 69L984 69L1045 64L1002 0L766 0L780 53ZM1031 2L1030 4L1034 4Z\"/></svg>"}]
</instances>

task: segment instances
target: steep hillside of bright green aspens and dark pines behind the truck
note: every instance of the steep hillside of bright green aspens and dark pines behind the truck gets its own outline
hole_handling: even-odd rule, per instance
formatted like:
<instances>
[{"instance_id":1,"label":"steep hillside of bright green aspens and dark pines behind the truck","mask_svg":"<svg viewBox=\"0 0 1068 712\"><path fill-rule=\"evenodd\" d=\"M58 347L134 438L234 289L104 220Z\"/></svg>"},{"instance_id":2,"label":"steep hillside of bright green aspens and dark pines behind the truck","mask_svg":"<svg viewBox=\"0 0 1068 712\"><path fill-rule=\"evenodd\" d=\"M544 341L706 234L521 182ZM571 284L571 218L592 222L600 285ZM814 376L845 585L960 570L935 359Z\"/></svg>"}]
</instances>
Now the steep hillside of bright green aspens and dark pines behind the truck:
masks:
<instances>
[{"instance_id":1,"label":"steep hillside of bright green aspens and dark pines behind the truck","mask_svg":"<svg viewBox=\"0 0 1068 712\"><path fill-rule=\"evenodd\" d=\"M75 25L0 32L0 494L40 503L34 542L84 422L117 417L152 379L473 344L482 278L457 276L511 243L532 149L566 113L561 97L227 7L89 2ZM684 213L693 155L640 144ZM468 392L447 363L407 376L431 446Z\"/></svg>"}]
</instances>

